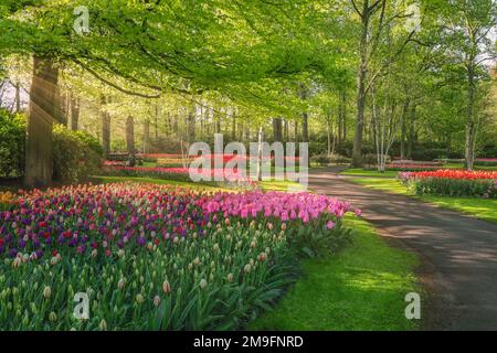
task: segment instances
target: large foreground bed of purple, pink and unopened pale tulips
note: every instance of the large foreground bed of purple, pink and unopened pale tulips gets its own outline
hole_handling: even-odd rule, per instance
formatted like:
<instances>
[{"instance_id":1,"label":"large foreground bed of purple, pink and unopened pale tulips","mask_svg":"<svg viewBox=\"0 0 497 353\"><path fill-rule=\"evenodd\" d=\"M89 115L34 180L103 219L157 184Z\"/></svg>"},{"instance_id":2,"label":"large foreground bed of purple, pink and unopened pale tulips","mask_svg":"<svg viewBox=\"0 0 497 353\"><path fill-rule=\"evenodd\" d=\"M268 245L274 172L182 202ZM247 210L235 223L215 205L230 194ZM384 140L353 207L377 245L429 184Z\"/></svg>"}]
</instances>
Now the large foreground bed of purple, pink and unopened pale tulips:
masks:
<instances>
[{"instance_id":1,"label":"large foreground bed of purple, pink and unopened pale tulips","mask_svg":"<svg viewBox=\"0 0 497 353\"><path fill-rule=\"evenodd\" d=\"M295 278L296 254L348 242L341 217L349 211L307 193L134 183L21 193L0 212L0 327L243 328ZM307 237L308 249L295 247ZM85 320L73 314L82 292Z\"/></svg>"}]
</instances>

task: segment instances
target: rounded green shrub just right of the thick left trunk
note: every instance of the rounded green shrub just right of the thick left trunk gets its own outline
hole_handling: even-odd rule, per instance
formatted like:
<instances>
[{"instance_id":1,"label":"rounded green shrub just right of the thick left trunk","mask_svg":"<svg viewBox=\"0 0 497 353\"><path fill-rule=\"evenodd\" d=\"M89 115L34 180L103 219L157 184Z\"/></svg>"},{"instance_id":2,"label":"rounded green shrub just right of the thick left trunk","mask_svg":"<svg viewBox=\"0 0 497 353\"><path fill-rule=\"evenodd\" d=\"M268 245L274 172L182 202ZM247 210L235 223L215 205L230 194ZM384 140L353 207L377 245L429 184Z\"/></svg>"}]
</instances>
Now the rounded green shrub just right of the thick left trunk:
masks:
<instances>
[{"instance_id":1,"label":"rounded green shrub just right of the thick left trunk","mask_svg":"<svg viewBox=\"0 0 497 353\"><path fill-rule=\"evenodd\" d=\"M62 125L53 128L53 179L77 183L95 174L102 165L102 148L83 131L71 131Z\"/></svg>"}]
</instances>

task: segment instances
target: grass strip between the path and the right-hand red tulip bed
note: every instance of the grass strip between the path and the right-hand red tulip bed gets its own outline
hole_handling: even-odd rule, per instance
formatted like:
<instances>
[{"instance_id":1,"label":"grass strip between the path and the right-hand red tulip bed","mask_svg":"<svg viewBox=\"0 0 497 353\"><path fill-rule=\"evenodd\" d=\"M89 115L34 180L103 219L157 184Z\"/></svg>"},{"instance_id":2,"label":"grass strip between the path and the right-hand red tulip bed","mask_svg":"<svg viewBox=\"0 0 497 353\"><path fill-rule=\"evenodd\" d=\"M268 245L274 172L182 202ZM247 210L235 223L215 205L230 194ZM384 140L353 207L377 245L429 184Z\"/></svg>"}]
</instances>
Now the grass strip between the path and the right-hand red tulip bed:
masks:
<instances>
[{"instance_id":1,"label":"grass strip between the path and the right-hand red tulip bed","mask_svg":"<svg viewBox=\"0 0 497 353\"><path fill-rule=\"evenodd\" d=\"M372 178L353 178L350 181L364 185L367 188L393 192L412 197L416 197L424 202L430 202L442 207L458 211L477 218L497 223L497 200L486 200L476 197L448 197L436 195L414 195L404 185L395 179L372 179Z\"/></svg>"}]
</instances>

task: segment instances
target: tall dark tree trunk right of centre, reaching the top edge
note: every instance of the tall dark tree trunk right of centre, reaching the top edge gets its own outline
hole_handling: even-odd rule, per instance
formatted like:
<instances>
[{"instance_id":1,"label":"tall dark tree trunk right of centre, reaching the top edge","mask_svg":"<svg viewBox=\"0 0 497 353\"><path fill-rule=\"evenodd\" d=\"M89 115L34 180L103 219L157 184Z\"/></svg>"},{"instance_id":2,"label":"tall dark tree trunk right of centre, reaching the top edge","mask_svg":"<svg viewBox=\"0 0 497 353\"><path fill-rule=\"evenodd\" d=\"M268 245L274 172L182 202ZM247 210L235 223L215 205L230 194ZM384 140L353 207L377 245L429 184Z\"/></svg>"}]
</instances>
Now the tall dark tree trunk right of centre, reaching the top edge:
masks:
<instances>
[{"instance_id":1,"label":"tall dark tree trunk right of centre, reaching the top edge","mask_svg":"<svg viewBox=\"0 0 497 353\"><path fill-rule=\"evenodd\" d=\"M362 167L362 131L366 108L366 78L368 74L368 32L369 32L369 1L364 1L362 10L362 31L359 46L360 64L357 75L357 116L353 136L352 167Z\"/></svg>"}]
</instances>

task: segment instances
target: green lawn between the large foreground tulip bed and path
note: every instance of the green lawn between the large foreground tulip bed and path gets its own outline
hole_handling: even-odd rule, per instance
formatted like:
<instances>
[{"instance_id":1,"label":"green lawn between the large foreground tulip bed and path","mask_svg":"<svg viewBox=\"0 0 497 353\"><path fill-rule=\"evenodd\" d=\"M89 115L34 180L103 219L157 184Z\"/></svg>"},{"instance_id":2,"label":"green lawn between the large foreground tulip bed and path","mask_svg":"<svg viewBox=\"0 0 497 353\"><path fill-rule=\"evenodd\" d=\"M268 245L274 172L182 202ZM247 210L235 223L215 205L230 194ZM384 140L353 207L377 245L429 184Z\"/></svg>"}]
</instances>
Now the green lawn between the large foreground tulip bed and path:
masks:
<instances>
[{"instance_id":1,"label":"green lawn between the large foreground tulip bed and path","mask_svg":"<svg viewBox=\"0 0 497 353\"><path fill-rule=\"evenodd\" d=\"M420 292L412 253L389 246L362 220L348 216L352 246L304 263L304 277L250 330L415 330L405 295Z\"/></svg>"}]
</instances>

